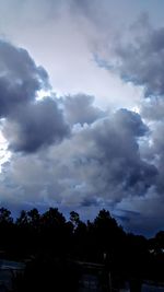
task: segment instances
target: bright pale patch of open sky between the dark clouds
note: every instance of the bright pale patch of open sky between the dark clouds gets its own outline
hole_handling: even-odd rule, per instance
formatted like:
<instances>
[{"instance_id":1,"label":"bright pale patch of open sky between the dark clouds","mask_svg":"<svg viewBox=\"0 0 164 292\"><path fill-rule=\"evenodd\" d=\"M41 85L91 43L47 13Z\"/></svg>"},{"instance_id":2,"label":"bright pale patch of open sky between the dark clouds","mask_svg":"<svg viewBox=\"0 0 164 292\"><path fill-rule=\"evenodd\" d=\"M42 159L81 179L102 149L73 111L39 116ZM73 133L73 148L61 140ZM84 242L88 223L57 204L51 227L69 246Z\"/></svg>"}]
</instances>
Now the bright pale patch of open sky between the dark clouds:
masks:
<instances>
[{"instance_id":1,"label":"bright pale patch of open sky between the dark clouds","mask_svg":"<svg viewBox=\"0 0 164 292\"><path fill-rule=\"evenodd\" d=\"M106 40L109 46L119 24L124 22L125 26L126 22L131 21L132 15L125 1L120 2L119 9L114 1L109 5L106 0L103 1L99 16L95 0L92 4L86 1L91 15L84 11L85 4L73 8L75 1L70 0L60 4L51 0L47 4L43 0L24 1L24 4L15 1L14 7L11 4L9 8L11 19L7 23L3 14L9 2L11 4L9 0L2 4L0 12L1 35L25 47L35 61L47 69L57 95L85 93L95 96L96 105L114 108L132 108L140 102L142 92L139 89L98 68L94 60L95 49L105 49ZM140 5L134 2L133 5L132 14L134 8L140 12ZM126 22L121 19L122 13L126 14ZM22 30L17 30L17 25Z\"/></svg>"}]
</instances>

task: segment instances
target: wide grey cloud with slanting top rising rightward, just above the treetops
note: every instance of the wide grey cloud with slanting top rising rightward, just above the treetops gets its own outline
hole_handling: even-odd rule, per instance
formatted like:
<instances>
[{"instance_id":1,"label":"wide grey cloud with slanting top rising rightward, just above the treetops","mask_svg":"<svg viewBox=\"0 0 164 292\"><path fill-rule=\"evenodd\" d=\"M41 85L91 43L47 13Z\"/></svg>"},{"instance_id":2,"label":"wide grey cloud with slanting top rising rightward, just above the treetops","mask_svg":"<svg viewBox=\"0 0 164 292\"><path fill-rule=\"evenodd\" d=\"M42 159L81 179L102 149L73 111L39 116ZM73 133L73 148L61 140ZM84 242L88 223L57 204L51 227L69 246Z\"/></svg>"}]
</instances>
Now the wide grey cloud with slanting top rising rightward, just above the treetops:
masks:
<instances>
[{"instance_id":1,"label":"wide grey cloud with slanting top rising rightward, just above the treetops","mask_svg":"<svg viewBox=\"0 0 164 292\"><path fill-rule=\"evenodd\" d=\"M139 219L149 208L148 221L159 205L162 210L162 199L157 195L157 167L140 155L138 140L147 133L138 114L121 109L74 129L69 139L52 143L46 151L40 148L31 155L15 153L2 168L4 187L0 188L0 196L20 206L51 205L87 214L99 208L114 213L118 209L131 210L141 214ZM152 194L156 198L154 208ZM122 214L128 218L124 222L128 230L141 227L141 220L137 224L136 217ZM152 224L153 229L156 224Z\"/></svg>"}]
</instances>

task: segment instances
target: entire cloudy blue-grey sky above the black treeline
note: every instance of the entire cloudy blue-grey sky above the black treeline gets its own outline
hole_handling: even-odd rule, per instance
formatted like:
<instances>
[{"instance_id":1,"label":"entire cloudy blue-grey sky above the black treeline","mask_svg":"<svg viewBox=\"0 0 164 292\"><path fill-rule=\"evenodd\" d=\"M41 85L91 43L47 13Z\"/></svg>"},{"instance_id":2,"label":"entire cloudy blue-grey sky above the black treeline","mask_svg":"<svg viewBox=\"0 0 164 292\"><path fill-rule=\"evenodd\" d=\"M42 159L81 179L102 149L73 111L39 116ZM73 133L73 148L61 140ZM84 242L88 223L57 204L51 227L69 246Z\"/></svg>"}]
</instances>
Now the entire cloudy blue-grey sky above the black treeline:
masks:
<instances>
[{"instance_id":1,"label":"entire cloudy blue-grey sky above the black treeline","mask_svg":"<svg viewBox=\"0 0 164 292\"><path fill-rule=\"evenodd\" d=\"M0 205L164 229L164 2L0 0Z\"/></svg>"}]
</instances>

